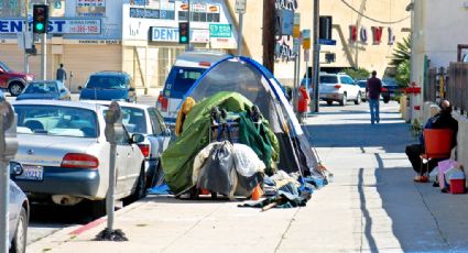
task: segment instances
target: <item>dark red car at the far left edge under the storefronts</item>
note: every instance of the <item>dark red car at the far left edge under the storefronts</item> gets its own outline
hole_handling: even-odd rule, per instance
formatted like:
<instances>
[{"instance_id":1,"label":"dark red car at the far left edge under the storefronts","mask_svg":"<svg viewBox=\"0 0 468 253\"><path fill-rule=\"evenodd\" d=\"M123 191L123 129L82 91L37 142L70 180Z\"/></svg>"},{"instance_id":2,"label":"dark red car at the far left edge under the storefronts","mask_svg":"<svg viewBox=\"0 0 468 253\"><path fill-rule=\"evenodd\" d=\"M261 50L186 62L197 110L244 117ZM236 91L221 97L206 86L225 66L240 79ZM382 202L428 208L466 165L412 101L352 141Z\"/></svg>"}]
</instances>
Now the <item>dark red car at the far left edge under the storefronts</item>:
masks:
<instances>
[{"instance_id":1,"label":"dark red car at the far left edge under the storefronts","mask_svg":"<svg viewBox=\"0 0 468 253\"><path fill-rule=\"evenodd\" d=\"M0 88L8 89L11 96L20 95L28 82L34 79L34 74L14 72L7 64L0 62Z\"/></svg>"}]
</instances>

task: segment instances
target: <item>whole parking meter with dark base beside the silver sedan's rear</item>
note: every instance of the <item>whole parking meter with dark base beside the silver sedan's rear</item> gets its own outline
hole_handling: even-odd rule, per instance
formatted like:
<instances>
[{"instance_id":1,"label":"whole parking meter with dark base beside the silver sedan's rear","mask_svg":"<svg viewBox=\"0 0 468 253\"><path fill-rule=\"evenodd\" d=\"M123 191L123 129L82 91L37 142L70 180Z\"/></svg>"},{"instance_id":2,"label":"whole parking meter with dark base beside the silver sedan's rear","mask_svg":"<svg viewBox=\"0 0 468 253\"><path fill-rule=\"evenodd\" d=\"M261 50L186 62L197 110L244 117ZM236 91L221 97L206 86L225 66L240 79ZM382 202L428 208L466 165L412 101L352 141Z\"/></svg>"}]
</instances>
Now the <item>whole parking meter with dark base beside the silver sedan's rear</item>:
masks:
<instances>
[{"instance_id":1,"label":"whole parking meter with dark base beside the silver sedan's rear","mask_svg":"<svg viewBox=\"0 0 468 253\"><path fill-rule=\"evenodd\" d=\"M112 101L106 111L106 140L110 143L109 150L109 188L106 196L107 228L96 235L97 241L128 241L121 230L113 229L115 221L115 189L116 189L116 151L118 140L123 133L122 111L118 102Z\"/></svg>"}]
</instances>

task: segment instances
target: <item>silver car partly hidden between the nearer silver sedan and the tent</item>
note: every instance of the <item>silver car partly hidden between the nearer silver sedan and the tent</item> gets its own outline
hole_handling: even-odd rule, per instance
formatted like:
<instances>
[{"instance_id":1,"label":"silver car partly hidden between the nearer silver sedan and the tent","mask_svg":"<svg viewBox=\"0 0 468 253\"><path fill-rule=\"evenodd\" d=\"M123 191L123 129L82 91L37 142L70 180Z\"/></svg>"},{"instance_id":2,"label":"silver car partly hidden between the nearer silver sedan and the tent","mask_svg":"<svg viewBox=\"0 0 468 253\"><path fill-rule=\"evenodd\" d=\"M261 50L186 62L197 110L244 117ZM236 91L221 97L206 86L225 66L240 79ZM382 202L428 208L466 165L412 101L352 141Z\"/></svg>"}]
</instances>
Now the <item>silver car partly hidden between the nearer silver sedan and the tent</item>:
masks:
<instances>
[{"instance_id":1,"label":"silver car partly hidden between the nearer silver sedan and the tent","mask_svg":"<svg viewBox=\"0 0 468 253\"><path fill-rule=\"evenodd\" d=\"M99 105L109 106L108 101ZM155 107L139 103L121 102L122 123L130 133L143 134L145 140L139 147L145 157L144 170L146 188L162 179L161 155L167 148L172 133L164 123L164 119Z\"/></svg>"}]
</instances>

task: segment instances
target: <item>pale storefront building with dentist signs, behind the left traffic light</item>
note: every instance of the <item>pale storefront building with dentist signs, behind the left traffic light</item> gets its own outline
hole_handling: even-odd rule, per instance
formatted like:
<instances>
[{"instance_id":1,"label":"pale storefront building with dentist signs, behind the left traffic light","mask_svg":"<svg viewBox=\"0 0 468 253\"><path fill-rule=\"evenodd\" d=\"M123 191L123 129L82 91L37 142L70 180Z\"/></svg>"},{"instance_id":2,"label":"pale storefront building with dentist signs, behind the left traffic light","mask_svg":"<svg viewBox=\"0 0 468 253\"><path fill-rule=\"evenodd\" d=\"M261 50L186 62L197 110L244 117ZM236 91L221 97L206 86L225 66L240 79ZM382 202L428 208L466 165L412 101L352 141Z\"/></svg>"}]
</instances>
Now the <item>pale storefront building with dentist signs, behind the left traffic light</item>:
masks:
<instances>
[{"instance_id":1,"label":"pale storefront building with dentist signs, behind the left traffic light","mask_svg":"<svg viewBox=\"0 0 468 253\"><path fill-rule=\"evenodd\" d=\"M29 13L34 3L43 2L31 0ZM222 0L193 1L191 6L193 48L227 52L237 47L237 34ZM18 46L18 34L24 30L25 7L4 1L1 7L0 61L22 70L24 54ZM140 94L155 94L175 57L185 51L178 43L178 22L187 21L186 1L53 0L50 8L46 77L55 78L63 63L73 72L67 81L73 91L94 72L122 70L132 76ZM29 66L40 76L39 40L35 46L37 56L29 57Z\"/></svg>"}]
</instances>

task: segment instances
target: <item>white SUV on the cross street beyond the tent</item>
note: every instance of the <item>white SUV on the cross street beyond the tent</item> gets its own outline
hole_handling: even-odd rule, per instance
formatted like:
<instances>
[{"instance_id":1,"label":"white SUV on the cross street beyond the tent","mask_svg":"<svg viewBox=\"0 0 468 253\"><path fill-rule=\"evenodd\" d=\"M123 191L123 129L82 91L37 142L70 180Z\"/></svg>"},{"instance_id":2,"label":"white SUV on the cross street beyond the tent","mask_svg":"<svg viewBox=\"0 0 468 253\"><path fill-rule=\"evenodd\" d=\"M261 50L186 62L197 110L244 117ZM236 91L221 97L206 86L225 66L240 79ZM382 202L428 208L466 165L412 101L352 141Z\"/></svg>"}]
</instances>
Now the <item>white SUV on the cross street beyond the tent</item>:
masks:
<instances>
[{"instance_id":1,"label":"white SUV on the cross street beyond the tent","mask_svg":"<svg viewBox=\"0 0 468 253\"><path fill-rule=\"evenodd\" d=\"M359 105L364 96L355 80L342 73L320 74L318 92L320 100L328 105L337 101L340 106L347 105L348 100L353 100L355 105Z\"/></svg>"}]
</instances>

